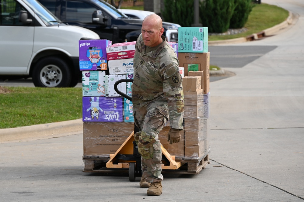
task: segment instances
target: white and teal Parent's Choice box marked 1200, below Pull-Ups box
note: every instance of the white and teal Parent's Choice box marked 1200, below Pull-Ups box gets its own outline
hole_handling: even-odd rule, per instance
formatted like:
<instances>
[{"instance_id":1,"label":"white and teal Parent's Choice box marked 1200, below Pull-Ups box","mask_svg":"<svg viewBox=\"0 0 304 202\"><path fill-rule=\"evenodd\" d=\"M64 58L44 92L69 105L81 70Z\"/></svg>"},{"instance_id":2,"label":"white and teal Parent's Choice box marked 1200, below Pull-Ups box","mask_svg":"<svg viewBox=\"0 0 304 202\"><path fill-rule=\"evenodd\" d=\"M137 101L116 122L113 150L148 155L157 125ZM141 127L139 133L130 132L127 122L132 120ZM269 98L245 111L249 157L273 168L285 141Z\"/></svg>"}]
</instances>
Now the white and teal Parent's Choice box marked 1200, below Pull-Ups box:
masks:
<instances>
[{"instance_id":1,"label":"white and teal Parent's Choice box marked 1200, below Pull-Ups box","mask_svg":"<svg viewBox=\"0 0 304 202\"><path fill-rule=\"evenodd\" d=\"M106 96L106 71L82 71L82 96Z\"/></svg>"}]
</instances>

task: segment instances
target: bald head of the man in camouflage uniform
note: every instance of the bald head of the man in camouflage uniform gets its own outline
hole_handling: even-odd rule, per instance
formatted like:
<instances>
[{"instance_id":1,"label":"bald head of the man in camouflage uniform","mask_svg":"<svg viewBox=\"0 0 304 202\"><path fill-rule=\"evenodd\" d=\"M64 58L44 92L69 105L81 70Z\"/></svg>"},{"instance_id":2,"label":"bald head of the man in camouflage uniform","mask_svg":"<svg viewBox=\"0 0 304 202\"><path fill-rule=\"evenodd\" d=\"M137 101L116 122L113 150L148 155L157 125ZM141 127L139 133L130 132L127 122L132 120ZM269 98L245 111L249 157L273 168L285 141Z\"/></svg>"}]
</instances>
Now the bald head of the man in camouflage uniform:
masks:
<instances>
[{"instance_id":1,"label":"bald head of the man in camouflage uniform","mask_svg":"<svg viewBox=\"0 0 304 202\"><path fill-rule=\"evenodd\" d=\"M146 46L155 47L162 43L162 18L159 15L151 14L142 21L142 39Z\"/></svg>"}]
</instances>

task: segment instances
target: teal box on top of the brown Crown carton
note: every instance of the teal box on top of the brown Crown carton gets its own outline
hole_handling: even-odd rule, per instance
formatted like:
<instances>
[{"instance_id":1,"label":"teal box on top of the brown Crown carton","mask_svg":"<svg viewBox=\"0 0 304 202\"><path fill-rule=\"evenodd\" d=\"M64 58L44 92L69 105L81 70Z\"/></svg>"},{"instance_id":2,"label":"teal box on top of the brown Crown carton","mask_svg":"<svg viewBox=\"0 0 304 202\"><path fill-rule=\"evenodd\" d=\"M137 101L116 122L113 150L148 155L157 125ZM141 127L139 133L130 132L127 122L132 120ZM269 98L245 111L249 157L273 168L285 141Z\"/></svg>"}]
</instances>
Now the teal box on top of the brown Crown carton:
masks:
<instances>
[{"instance_id":1,"label":"teal box on top of the brown Crown carton","mask_svg":"<svg viewBox=\"0 0 304 202\"><path fill-rule=\"evenodd\" d=\"M179 53L207 53L208 27L179 27Z\"/></svg>"}]
</instances>

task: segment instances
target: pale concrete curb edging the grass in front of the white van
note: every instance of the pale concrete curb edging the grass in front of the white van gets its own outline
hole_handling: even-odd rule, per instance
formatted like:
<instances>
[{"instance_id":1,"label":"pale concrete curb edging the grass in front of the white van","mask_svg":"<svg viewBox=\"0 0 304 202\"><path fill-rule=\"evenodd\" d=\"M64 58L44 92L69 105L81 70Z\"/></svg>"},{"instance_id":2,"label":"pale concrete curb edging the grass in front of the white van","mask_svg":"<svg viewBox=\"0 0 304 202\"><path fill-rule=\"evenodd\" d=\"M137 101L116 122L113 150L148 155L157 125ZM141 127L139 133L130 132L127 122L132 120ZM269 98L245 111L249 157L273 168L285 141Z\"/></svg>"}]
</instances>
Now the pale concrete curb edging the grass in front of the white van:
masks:
<instances>
[{"instance_id":1,"label":"pale concrete curb edging the grass in front of the white van","mask_svg":"<svg viewBox=\"0 0 304 202\"><path fill-rule=\"evenodd\" d=\"M82 119L0 129L0 142L47 139L82 133Z\"/></svg>"}]
</instances>

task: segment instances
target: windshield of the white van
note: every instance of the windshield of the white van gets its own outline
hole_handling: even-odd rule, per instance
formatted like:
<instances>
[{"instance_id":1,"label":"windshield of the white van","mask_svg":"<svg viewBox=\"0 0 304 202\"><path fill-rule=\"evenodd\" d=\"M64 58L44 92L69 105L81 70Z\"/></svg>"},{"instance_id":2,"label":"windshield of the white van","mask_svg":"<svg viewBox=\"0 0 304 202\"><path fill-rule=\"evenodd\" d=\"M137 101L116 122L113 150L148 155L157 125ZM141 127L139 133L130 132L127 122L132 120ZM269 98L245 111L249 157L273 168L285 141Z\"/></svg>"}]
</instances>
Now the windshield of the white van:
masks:
<instances>
[{"instance_id":1,"label":"windshield of the white van","mask_svg":"<svg viewBox=\"0 0 304 202\"><path fill-rule=\"evenodd\" d=\"M54 26L61 23L60 19L49 12L43 5L36 0L24 0L27 5L40 17L47 26Z\"/></svg>"}]
</instances>

